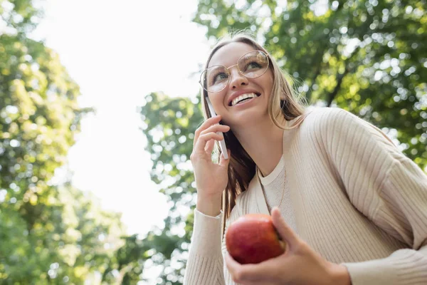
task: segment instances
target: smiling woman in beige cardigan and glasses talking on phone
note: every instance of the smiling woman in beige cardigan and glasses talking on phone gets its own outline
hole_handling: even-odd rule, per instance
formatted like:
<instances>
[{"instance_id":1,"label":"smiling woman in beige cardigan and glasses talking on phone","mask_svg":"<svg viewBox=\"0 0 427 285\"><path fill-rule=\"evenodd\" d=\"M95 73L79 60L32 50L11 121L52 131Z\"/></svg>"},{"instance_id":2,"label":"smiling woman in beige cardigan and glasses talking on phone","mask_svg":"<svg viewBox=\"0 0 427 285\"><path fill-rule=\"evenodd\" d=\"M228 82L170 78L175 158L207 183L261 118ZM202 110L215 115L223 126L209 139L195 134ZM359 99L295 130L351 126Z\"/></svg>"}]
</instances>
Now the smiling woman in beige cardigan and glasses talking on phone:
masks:
<instances>
[{"instance_id":1,"label":"smiling woman in beige cardigan and glasses talking on phone","mask_svg":"<svg viewBox=\"0 0 427 285\"><path fill-rule=\"evenodd\" d=\"M248 36L218 43L201 85L184 284L427 284L427 177L381 130L338 108L307 112ZM212 162L223 139L230 158ZM285 254L228 255L223 227L248 213L271 213Z\"/></svg>"}]
</instances>

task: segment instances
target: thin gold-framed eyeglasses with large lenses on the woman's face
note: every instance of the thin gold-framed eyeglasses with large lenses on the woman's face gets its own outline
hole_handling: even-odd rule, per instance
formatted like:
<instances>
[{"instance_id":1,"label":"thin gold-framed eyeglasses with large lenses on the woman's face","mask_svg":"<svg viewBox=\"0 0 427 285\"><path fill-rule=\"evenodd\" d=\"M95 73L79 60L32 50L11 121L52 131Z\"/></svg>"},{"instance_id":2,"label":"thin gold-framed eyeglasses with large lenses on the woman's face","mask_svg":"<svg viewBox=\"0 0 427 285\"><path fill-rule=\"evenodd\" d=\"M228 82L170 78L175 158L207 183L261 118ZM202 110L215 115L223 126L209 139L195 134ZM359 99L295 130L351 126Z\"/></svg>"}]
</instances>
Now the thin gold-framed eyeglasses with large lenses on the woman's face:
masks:
<instances>
[{"instance_id":1,"label":"thin gold-framed eyeglasses with large lenses on the woman's face","mask_svg":"<svg viewBox=\"0 0 427 285\"><path fill-rule=\"evenodd\" d=\"M267 71L268 56L263 51L250 51L243 54L234 66L246 78L257 78ZM217 65L206 68L200 76L201 87L211 93L221 92L230 82L230 69L234 66L226 68Z\"/></svg>"}]
</instances>

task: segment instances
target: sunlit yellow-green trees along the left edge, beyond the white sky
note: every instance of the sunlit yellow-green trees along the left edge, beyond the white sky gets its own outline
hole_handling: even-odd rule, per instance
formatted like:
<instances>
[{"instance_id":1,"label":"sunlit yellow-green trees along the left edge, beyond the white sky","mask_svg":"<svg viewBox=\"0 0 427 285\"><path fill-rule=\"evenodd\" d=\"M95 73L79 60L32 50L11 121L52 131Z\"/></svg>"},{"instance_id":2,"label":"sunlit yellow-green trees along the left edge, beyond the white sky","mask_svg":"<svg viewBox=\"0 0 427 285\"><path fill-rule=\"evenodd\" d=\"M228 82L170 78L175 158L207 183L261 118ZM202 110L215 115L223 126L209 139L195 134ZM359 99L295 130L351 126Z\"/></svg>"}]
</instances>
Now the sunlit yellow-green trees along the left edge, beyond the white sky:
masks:
<instances>
[{"instance_id":1,"label":"sunlit yellow-green trees along the left edge, beyond the white sky","mask_svg":"<svg viewBox=\"0 0 427 285\"><path fill-rule=\"evenodd\" d=\"M52 180L92 110L79 108L58 54L28 38L42 15L35 7L0 0L0 283L95 283L105 274L112 284L120 214Z\"/></svg>"}]
</instances>

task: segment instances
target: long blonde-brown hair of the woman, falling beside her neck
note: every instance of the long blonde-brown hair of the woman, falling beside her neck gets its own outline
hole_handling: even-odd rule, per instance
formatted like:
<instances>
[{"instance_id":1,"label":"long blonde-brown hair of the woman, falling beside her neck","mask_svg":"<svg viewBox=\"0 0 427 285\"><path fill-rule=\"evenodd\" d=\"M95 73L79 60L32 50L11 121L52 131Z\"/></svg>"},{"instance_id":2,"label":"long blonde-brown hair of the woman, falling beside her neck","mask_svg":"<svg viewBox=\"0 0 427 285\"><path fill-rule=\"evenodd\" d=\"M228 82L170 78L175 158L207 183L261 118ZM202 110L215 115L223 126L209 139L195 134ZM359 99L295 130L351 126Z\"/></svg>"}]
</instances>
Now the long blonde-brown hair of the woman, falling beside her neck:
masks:
<instances>
[{"instance_id":1,"label":"long blonde-brown hair of the woman, falling beside her neck","mask_svg":"<svg viewBox=\"0 0 427 285\"><path fill-rule=\"evenodd\" d=\"M278 120L279 115L283 115L285 120L292 120L305 113L305 105L302 103L300 97L292 91L292 87L286 77L290 76L282 71L278 66L278 63L270 56L268 51L265 50L255 39L250 36L247 32L241 31L235 34L228 34L218 41L216 46L212 49L208 60L206 61L206 67L208 68L209 62L211 61L214 53L228 43L246 43L249 46L255 48L255 50L263 51L267 54L271 68L273 71L273 89L271 92L270 99L268 101L268 114L273 120L273 123L279 128L285 129L284 125ZM210 118L211 114L206 104L206 97L208 93L206 90L201 88L201 105L204 113L204 117ZM249 182L255 175L255 162L248 155L248 152L243 149L241 143L237 140L232 130L224 133L224 140L229 150L231 150L230 163L228 164L228 184L226 189L223 191L221 199L221 209L223 210L223 231L226 225L226 219L230 217L231 210L236 205L236 199L241 192L245 192L248 189ZM216 153L218 154L217 159L221 155L221 150L216 144Z\"/></svg>"}]
</instances>

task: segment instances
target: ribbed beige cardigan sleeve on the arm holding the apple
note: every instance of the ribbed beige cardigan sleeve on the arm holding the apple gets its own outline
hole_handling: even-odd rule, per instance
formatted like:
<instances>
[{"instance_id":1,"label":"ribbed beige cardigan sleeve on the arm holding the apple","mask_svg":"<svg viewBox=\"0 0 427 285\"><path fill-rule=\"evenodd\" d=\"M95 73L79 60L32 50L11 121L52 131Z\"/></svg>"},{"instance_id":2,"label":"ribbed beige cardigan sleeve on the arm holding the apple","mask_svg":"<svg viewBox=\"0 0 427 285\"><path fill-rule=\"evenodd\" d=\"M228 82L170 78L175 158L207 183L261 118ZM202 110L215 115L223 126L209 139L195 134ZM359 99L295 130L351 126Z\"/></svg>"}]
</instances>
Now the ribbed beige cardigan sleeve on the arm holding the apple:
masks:
<instances>
[{"instance_id":1,"label":"ribbed beige cardigan sleeve on the arm holding the apple","mask_svg":"<svg viewBox=\"0 0 427 285\"><path fill-rule=\"evenodd\" d=\"M427 176L378 128L347 111L325 113L326 147L350 201L407 244L347 266L353 285L427 284Z\"/></svg>"}]
</instances>

